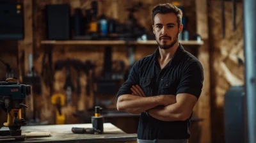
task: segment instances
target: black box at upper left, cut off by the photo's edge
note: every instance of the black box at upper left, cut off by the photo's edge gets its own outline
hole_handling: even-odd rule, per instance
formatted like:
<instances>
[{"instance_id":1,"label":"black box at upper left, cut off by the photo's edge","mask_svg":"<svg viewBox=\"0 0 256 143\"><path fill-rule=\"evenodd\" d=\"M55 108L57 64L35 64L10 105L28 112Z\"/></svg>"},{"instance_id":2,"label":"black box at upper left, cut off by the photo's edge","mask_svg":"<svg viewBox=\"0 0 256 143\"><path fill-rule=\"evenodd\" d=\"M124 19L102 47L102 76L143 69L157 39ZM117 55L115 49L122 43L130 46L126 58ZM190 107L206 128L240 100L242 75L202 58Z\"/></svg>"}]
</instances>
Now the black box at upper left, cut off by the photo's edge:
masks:
<instances>
[{"instance_id":1,"label":"black box at upper left, cut off by the photo's edge","mask_svg":"<svg viewBox=\"0 0 256 143\"><path fill-rule=\"evenodd\" d=\"M24 39L23 5L0 3L0 40Z\"/></svg>"}]
</instances>

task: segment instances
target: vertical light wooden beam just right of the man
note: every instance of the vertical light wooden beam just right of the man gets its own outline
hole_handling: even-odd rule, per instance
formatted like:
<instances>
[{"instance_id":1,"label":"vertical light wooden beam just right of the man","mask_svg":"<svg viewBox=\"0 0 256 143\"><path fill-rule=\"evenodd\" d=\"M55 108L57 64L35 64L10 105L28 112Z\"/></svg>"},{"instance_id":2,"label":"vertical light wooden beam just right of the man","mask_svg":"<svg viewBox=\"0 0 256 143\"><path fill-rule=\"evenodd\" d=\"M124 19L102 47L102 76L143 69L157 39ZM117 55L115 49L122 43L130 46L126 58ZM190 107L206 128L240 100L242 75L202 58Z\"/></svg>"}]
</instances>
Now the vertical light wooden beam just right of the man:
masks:
<instances>
[{"instance_id":1,"label":"vertical light wooden beam just right of the man","mask_svg":"<svg viewBox=\"0 0 256 143\"><path fill-rule=\"evenodd\" d=\"M198 49L198 60L204 67L204 87L202 94L198 100L196 113L199 117L203 118L201 122L202 136L201 142L211 142L211 98L210 98L210 55L209 55L209 29L208 29L208 12L207 12L207 0L195 0L196 6L196 33L199 34L204 41Z\"/></svg>"}]
</instances>

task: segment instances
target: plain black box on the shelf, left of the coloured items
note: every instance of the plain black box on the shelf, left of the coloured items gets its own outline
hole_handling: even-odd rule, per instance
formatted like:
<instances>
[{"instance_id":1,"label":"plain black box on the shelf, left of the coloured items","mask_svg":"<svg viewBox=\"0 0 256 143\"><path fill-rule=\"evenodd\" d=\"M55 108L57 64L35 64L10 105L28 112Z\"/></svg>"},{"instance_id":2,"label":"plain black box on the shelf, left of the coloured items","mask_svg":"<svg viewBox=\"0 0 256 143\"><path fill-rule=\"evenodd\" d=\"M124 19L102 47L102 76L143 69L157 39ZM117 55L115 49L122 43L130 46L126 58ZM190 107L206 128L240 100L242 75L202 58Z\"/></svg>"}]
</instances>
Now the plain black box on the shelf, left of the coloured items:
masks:
<instances>
[{"instance_id":1,"label":"plain black box on the shelf, left of the coloured items","mask_svg":"<svg viewBox=\"0 0 256 143\"><path fill-rule=\"evenodd\" d=\"M48 40L70 40L70 5L46 5Z\"/></svg>"}]
</instances>

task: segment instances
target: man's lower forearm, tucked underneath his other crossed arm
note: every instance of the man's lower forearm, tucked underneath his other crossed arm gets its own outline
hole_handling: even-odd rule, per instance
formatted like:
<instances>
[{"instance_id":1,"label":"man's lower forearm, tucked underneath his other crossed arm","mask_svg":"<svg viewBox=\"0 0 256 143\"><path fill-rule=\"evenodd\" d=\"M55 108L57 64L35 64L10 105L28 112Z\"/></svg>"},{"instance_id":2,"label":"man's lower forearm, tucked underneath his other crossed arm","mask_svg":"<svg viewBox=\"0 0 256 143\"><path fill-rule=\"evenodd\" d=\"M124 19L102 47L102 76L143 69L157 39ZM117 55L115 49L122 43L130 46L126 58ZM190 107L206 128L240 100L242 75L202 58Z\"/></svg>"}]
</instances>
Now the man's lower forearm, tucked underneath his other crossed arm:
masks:
<instances>
[{"instance_id":1,"label":"man's lower forearm, tucked underneath his other crossed arm","mask_svg":"<svg viewBox=\"0 0 256 143\"><path fill-rule=\"evenodd\" d=\"M182 121L182 114L179 110L175 110L177 103L166 107L155 107L148 110L148 114L161 121Z\"/></svg>"}]
</instances>

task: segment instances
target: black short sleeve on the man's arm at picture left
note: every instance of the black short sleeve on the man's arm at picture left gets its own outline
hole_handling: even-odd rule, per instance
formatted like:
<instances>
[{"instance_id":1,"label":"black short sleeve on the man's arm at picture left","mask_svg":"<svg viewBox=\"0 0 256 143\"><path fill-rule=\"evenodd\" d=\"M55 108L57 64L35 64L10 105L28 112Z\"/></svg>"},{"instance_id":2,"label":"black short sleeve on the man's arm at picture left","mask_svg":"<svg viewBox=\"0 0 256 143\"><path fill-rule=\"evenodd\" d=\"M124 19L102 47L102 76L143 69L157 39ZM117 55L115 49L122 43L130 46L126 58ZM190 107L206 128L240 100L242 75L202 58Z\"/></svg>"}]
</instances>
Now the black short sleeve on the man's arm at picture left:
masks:
<instances>
[{"instance_id":1,"label":"black short sleeve on the man's arm at picture left","mask_svg":"<svg viewBox=\"0 0 256 143\"><path fill-rule=\"evenodd\" d=\"M138 66L138 62L136 62L132 68L131 71L129 73L129 76L127 78L127 80L124 82L124 84L122 84L122 86L120 87L118 93L116 94L116 102L119 96L123 95L123 94L131 94L131 87L133 85L139 84L140 83L140 78L138 75L138 71L139 71L139 66Z\"/></svg>"}]
</instances>

